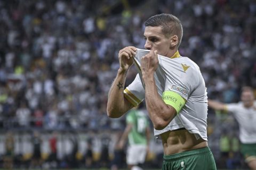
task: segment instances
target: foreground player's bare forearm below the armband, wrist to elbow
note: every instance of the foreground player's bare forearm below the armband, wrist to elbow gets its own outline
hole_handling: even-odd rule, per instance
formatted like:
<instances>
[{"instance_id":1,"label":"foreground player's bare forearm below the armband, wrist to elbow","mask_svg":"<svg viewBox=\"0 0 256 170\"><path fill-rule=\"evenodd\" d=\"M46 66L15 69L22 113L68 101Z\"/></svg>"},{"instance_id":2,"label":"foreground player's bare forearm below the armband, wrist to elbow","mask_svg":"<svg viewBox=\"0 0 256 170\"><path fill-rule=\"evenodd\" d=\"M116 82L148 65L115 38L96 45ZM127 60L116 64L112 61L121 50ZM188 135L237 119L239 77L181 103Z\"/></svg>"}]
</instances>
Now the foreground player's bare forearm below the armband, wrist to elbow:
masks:
<instances>
[{"instance_id":1,"label":"foreground player's bare forearm below the armband, wrist to elbow","mask_svg":"<svg viewBox=\"0 0 256 170\"><path fill-rule=\"evenodd\" d=\"M145 100L150 120L156 130L164 129L175 117L176 111L171 106L166 105L159 96L153 75L145 78L144 82Z\"/></svg>"}]
</instances>

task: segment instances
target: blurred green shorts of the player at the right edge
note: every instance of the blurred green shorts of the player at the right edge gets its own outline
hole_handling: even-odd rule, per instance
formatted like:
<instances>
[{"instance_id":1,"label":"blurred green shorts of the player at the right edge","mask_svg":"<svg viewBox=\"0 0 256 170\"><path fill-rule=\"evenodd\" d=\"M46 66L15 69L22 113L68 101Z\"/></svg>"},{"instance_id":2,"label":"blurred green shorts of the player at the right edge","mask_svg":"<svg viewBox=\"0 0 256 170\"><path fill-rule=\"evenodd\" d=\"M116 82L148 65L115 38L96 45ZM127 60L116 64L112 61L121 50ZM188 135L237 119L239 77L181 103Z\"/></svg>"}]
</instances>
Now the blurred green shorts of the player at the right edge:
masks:
<instances>
[{"instance_id":1,"label":"blurred green shorts of the player at the right edge","mask_svg":"<svg viewBox=\"0 0 256 170\"><path fill-rule=\"evenodd\" d=\"M252 159L256 159L256 143L241 143L241 152L245 158L245 162L250 162Z\"/></svg>"}]
</instances>

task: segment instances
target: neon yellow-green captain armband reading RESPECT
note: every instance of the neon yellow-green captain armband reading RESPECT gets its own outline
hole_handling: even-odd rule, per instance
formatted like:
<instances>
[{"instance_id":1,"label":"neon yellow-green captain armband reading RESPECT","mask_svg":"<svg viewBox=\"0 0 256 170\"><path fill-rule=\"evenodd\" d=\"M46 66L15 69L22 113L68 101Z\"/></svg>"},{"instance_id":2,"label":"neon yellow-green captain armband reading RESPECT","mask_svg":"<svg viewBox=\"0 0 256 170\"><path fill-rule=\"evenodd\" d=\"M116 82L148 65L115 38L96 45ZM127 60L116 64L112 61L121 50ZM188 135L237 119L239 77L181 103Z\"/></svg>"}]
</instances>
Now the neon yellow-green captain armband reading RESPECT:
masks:
<instances>
[{"instance_id":1,"label":"neon yellow-green captain armband reading RESPECT","mask_svg":"<svg viewBox=\"0 0 256 170\"><path fill-rule=\"evenodd\" d=\"M186 100L174 91L164 91L163 100L165 104L174 107L175 110L177 111L177 114L180 113L180 110L186 103Z\"/></svg>"}]
</instances>

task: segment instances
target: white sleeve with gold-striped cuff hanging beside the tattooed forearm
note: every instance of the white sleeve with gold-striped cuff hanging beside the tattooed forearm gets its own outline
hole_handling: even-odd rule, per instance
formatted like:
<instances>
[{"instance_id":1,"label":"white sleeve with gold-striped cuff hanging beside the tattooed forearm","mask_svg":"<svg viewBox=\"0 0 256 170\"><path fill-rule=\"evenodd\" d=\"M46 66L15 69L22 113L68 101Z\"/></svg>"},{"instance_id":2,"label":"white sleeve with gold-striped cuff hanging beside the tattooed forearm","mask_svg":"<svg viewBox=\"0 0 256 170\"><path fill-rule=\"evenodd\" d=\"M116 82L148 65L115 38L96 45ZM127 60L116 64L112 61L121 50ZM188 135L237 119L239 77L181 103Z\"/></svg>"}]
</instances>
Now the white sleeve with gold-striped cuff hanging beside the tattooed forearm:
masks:
<instances>
[{"instance_id":1,"label":"white sleeve with gold-striped cuff hanging beside the tattooed forearm","mask_svg":"<svg viewBox=\"0 0 256 170\"><path fill-rule=\"evenodd\" d=\"M124 97L134 106L138 106L145 98L145 89L142 86L139 74L133 82L124 89Z\"/></svg>"}]
</instances>

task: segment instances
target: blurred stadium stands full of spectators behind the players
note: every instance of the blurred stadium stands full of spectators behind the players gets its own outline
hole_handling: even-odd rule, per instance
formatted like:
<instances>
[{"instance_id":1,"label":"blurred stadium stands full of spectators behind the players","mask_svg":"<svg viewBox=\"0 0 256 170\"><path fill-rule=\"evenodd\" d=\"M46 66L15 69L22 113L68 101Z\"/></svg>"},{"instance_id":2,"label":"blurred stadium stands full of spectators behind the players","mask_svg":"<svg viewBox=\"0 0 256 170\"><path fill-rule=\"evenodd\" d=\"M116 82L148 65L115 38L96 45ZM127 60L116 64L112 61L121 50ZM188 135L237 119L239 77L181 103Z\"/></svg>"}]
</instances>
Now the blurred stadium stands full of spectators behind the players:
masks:
<instances>
[{"instance_id":1,"label":"blurred stadium stands full of spectators behind the players","mask_svg":"<svg viewBox=\"0 0 256 170\"><path fill-rule=\"evenodd\" d=\"M181 20L179 52L201 67L210 98L237 102L242 86L256 88L256 1L0 1L0 167L12 140L14 167L38 167L37 138L44 168L109 168L125 127L106 114L118 51L143 48L143 21L158 13ZM208 122L218 169L246 169L233 116L210 109ZM145 168L161 167L161 145L152 135Z\"/></svg>"}]
</instances>

